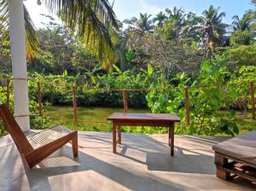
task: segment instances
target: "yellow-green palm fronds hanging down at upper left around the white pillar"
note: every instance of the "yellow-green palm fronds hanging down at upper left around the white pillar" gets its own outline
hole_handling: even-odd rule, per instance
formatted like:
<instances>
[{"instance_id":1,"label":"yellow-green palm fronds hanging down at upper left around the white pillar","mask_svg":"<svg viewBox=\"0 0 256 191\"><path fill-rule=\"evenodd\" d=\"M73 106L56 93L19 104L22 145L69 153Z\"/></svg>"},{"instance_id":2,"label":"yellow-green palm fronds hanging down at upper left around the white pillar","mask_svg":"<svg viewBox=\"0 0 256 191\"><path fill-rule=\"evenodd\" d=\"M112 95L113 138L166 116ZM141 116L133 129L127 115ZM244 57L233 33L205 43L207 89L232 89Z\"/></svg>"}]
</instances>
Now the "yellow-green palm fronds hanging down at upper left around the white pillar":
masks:
<instances>
[{"instance_id":1,"label":"yellow-green palm fronds hanging down at upper left around the white pillar","mask_svg":"<svg viewBox=\"0 0 256 191\"><path fill-rule=\"evenodd\" d=\"M108 0L42 0L50 14L59 15L79 43L89 49L102 66L116 61L111 35L117 29L116 16ZM38 0L38 3L41 3ZM32 20L24 6L27 48L37 49L38 41ZM9 26L8 0L0 0L0 17Z\"/></svg>"}]
</instances>

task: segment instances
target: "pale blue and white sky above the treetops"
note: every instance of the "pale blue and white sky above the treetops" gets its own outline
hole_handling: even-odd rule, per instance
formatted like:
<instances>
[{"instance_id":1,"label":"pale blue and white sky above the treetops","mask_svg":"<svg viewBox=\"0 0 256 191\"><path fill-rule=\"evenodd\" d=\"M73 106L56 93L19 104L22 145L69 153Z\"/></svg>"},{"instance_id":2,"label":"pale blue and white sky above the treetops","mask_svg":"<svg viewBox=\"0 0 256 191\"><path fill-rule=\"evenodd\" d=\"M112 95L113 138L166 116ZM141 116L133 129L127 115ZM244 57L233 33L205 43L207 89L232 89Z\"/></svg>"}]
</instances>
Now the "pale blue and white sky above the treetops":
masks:
<instances>
[{"instance_id":1,"label":"pale blue and white sky above the treetops","mask_svg":"<svg viewBox=\"0 0 256 191\"><path fill-rule=\"evenodd\" d=\"M110 3L113 0L109 0ZM37 0L26 0L26 8L31 14L36 27L42 27L41 22L46 22L40 14L49 14L44 4L38 5ZM185 11L192 11L201 14L210 5L220 7L226 13L224 22L230 24L234 15L241 16L247 9L255 9L251 0L114 0L113 10L121 21L138 16L139 13L158 14L161 10L173 7L183 8Z\"/></svg>"}]
</instances>

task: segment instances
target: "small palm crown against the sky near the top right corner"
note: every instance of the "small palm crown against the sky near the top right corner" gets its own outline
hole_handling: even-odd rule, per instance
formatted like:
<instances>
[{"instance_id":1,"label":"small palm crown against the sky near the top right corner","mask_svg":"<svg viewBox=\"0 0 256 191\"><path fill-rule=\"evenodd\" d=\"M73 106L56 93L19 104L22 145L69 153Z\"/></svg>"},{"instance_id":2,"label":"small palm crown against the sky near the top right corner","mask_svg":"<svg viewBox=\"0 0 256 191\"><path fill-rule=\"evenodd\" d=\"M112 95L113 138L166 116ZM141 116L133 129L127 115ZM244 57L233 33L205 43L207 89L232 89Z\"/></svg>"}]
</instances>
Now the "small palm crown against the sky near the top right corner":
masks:
<instances>
[{"instance_id":1,"label":"small palm crown against the sky near the top right corner","mask_svg":"<svg viewBox=\"0 0 256 191\"><path fill-rule=\"evenodd\" d=\"M240 30L241 32L250 30L251 25L253 24L253 17L250 14L250 12L247 12L246 14L243 14L241 18L239 18L238 15L233 16L233 30L237 31Z\"/></svg>"}]
</instances>

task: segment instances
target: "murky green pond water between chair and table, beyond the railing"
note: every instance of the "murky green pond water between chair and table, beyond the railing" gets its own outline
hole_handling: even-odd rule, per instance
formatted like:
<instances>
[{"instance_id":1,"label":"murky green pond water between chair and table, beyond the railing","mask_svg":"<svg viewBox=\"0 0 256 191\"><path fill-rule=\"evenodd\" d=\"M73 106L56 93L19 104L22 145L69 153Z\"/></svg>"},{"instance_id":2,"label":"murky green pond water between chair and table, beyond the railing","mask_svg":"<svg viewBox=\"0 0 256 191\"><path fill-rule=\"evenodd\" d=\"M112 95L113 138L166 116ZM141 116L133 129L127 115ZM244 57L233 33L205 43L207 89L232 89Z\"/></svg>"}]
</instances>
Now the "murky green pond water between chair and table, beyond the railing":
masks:
<instances>
[{"instance_id":1,"label":"murky green pond water between chair and table, beyond the railing","mask_svg":"<svg viewBox=\"0 0 256 191\"><path fill-rule=\"evenodd\" d=\"M124 108L78 107L78 124L73 123L73 107L50 107L46 115L50 124L64 124L73 130L106 130L111 128L107 118L115 112L124 112ZM128 108L130 113L150 113L149 109ZM100 122L100 123L99 123Z\"/></svg>"}]
</instances>

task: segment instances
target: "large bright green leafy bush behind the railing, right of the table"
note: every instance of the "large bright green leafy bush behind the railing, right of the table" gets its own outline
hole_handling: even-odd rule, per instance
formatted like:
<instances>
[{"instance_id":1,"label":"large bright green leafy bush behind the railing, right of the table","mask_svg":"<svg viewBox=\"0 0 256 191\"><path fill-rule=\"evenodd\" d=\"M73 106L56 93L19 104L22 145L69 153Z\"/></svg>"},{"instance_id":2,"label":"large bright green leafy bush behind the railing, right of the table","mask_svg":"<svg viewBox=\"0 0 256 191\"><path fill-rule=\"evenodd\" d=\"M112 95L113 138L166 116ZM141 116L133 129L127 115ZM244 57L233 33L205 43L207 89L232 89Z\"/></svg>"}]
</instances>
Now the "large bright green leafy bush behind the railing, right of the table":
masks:
<instances>
[{"instance_id":1,"label":"large bright green leafy bush behind the railing, right of the table","mask_svg":"<svg viewBox=\"0 0 256 191\"><path fill-rule=\"evenodd\" d=\"M216 60L205 61L201 66L198 77L191 81L184 73L178 74L172 81L178 83L177 87L168 89L168 92L152 90L148 92L148 107L153 113L177 113L185 121L184 87L190 85L190 125L181 125L177 133L191 135L217 135L226 134L235 136L239 133L239 119L230 109L236 107L236 99L241 98L241 92L249 95L248 86L243 89L241 85L255 79L255 67L241 67L240 77L236 77L224 67L223 57L216 55ZM234 80L230 80L234 78ZM154 88L168 87L166 82L152 83ZM245 107L250 107L246 102ZM229 112L220 112L229 109Z\"/></svg>"}]
</instances>

